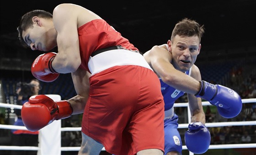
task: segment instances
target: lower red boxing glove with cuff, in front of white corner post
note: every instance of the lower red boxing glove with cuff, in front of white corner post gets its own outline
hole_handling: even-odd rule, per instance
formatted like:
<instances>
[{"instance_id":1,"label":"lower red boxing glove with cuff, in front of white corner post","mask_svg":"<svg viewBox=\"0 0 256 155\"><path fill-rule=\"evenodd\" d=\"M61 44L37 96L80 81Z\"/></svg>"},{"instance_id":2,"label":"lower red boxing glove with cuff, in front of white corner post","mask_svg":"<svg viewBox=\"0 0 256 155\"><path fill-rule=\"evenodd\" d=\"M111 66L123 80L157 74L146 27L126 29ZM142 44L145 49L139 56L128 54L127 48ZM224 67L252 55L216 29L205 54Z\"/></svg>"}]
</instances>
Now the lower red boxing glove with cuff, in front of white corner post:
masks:
<instances>
[{"instance_id":1,"label":"lower red boxing glove with cuff, in front of white corner post","mask_svg":"<svg viewBox=\"0 0 256 155\"><path fill-rule=\"evenodd\" d=\"M67 100L53 101L46 95L31 96L21 108L21 118L30 131L37 131L53 120L71 116L73 109Z\"/></svg>"}]
</instances>

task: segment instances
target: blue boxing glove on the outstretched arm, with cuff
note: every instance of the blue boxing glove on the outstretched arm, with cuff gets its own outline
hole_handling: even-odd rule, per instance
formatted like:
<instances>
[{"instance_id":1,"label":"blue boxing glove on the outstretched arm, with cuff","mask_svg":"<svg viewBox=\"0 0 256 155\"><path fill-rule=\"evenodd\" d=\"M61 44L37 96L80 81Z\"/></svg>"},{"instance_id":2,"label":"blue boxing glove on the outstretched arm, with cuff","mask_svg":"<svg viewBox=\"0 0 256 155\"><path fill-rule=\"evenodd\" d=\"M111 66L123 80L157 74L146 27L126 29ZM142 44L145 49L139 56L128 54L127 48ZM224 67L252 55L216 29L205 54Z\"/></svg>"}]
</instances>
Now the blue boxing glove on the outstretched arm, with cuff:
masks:
<instances>
[{"instance_id":1,"label":"blue boxing glove on the outstretched arm, with cuff","mask_svg":"<svg viewBox=\"0 0 256 155\"><path fill-rule=\"evenodd\" d=\"M195 96L217 106L219 114L225 118L233 118L242 110L240 96L234 90L223 85L213 85L202 80L201 89Z\"/></svg>"}]
</instances>

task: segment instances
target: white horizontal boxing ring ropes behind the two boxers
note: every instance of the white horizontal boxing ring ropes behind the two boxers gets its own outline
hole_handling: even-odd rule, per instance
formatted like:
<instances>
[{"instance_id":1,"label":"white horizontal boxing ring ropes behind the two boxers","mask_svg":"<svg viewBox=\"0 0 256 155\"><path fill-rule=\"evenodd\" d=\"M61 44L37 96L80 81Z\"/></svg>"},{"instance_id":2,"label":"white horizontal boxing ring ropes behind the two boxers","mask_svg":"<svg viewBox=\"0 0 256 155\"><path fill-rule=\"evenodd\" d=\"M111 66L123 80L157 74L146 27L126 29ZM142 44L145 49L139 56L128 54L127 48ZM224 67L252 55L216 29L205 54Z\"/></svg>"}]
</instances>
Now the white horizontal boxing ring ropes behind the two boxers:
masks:
<instances>
[{"instance_id":1,"label":"white horizontal boxing ring ropes behind the two boxers","mask_svg":"<svg viewBox=\"0 0 256 155\"><path fill-rule=\"evenodd\" d=\"M242 99L243 104L244 103L256 103L256 99ZM211 105L208 101L202 102L202 105ZM212 105L213 106L213 105ZM0 103L0 107L3 108L11 108L11 109L21 109L21 105L12 105L12 104L6 104L6 103ZM175 103L174 107L188 107L188 103ZM188 111L188 122L191 121L191 115L189 110ZM179 124L178 128L187 128L187 124ZM217 122L217 123L206 123L207 127L220 127L220 126L240 126L240 125L256 125L256 121L237 121L237 122ZM0 129L18 129L18 130L27 130L24 126L16 126L16 125L2 125L0 124ZM41 129L42 130L42 129ZM62 127L61 132L64 131L81 131L81 127ZM209 149L231 149L231 148L256 148L256 143L250 143L250 144L222 144L222 145L210 145ZM35 146L5 146L0 145L0 150L40 150L40 147ZM61 151L79 151L80 147L61 147ZM105 150L103 148L102 150ZM182 150L187 150L187 146L183 145ZM193 155L192 152L190 152L190 155Z\"/></svg>"}]
</instances>

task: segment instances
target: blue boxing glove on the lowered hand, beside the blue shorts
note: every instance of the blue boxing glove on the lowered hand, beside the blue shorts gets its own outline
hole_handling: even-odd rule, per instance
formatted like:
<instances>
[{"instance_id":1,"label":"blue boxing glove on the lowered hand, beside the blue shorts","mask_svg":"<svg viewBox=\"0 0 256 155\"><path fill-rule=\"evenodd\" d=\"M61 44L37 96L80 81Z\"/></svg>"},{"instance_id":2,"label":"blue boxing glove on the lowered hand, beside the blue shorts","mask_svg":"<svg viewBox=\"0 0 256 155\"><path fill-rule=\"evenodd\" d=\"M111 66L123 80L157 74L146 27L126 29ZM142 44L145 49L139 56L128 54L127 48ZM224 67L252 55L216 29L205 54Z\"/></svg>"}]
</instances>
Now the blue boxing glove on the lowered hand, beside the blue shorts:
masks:
<instances>
[{"instance_id":1,"label":"blue boxing glove on the lowered hand, beside the blue shorts","mask_svg":"<svg viewBox=\"0 0 256 155\"><path fill-rule=\"evenodd\" d=\"M192 122L188 125L188 130L185 133L185 143L189 151L203 154L211 143L210 132L203 123Z\"/></svg>"}]
</instances>

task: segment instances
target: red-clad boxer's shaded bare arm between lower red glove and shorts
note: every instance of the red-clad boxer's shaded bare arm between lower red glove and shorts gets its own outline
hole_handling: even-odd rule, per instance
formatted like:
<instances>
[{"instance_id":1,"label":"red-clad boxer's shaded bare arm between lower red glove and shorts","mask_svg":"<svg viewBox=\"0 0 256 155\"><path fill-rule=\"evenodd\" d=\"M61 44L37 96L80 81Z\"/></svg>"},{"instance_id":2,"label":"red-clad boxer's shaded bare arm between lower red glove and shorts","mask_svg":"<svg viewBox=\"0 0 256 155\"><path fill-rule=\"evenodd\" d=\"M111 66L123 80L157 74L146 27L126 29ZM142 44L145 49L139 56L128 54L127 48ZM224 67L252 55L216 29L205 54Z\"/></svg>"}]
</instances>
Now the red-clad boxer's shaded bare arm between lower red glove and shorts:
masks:
<instances>
[{"instance_id":1,"label":"red-clad boxer's shaded bare arm between lower red glove and shorts","mask_svg":"<svg viewBox=\"0 0 256 155\"><path fill-rule=\"evenodd\" d=\"M71 75L77 95L68 101L73 108L72 115L75 115L84 112L86 101L89 97L89 77L91 74L86 70L78 68L78 70L76 70L74 73L71 73Z\"/></svg>"}]
</instances>

